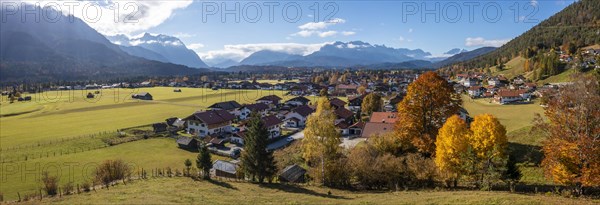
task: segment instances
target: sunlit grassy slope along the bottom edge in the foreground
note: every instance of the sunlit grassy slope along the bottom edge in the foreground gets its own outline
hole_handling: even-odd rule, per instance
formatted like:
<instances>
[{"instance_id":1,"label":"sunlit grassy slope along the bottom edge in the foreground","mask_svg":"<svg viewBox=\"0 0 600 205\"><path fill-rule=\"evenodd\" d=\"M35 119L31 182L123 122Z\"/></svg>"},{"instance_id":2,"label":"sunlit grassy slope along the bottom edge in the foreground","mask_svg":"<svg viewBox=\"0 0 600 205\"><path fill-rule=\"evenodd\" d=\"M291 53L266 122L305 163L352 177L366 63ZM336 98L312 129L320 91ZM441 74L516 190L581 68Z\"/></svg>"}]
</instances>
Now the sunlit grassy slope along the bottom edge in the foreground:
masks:
<instances>
[{"instance_id":1,"label":"sunlit grassy slope along the bottom edge in the foreground","mask_svg":"<svg viewBox=\"0 0 600 205\"><path fill-rule=\"evenodd\" d=\"M172 191L166 191L172 190ZM328 194L331 192L331 195ZM157 178L109 190L29 203L47 204L594 204L598 200L484 191L357 192L312 186Z\"/></svg>"}]
</instances>

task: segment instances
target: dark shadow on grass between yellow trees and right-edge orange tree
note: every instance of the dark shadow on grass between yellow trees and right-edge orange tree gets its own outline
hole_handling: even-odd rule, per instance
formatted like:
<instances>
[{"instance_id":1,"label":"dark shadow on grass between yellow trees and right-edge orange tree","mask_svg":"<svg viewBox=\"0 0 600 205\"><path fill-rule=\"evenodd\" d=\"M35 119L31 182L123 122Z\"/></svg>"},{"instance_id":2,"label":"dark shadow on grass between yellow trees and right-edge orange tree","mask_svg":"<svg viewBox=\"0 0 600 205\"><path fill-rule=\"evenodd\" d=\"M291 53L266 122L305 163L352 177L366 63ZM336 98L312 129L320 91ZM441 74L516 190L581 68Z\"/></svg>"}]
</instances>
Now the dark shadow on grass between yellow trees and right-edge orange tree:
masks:
<instances>
[{"instance_id":1,"label":"dark shadow on grass between yellow trees and right-edge orange tree","mask_svg":"<svg viewBox=\"0 0 600 205\"><path fill-rule=\"evenodd\" d=\"M509 142L508 151L515 157L517 163L539 166L544 158L541 146Z\"/></svg>"}]
</instances>

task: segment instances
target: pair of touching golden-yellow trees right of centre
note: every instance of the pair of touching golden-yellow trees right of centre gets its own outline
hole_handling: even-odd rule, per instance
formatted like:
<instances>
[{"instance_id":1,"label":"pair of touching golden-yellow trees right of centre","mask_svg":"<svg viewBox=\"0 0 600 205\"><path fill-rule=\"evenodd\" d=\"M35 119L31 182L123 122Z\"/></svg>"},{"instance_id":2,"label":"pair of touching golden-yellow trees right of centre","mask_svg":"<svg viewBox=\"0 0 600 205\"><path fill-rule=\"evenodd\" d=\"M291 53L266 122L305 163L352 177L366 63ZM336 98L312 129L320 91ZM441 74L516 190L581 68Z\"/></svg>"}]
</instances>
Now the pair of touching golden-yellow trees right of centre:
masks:
<instances>
[{"instance_id":1,"label":"pair of touching golden-yellow trees right of centre","mask_svg":"<svg viewBox=\"0 0 600 205\"><path fill-rule=\"evenodd\" d=\"M469 129L454 115L439 130L435 163L447 185L467 175L476 187L490 188L504 174L507 146L506 128L494 116L475 116Z\"/></svg>"}]
</instances>

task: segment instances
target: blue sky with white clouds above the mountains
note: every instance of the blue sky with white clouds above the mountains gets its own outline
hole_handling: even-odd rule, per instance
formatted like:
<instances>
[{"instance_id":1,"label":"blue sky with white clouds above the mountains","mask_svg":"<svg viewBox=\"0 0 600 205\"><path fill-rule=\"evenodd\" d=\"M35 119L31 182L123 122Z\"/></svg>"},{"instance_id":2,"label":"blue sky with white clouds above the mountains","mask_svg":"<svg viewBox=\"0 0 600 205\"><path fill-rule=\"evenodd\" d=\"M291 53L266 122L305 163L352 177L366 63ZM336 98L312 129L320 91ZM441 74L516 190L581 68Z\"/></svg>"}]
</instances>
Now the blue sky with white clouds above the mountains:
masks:
<instances>
[{"instance_id":1,"label":"blue sky with white clouds above the mountains","mask_svg":"<svg viewBox=\"0 0 600 205\"><path fill-rule=\"evenodd\" d=\"M216 63L263 49L306 55L356 40L444 56L453 48L501 46L573 2L103 0L79 1L72 13L105 35L176 36Z\"/></svg>"}]
</instances>

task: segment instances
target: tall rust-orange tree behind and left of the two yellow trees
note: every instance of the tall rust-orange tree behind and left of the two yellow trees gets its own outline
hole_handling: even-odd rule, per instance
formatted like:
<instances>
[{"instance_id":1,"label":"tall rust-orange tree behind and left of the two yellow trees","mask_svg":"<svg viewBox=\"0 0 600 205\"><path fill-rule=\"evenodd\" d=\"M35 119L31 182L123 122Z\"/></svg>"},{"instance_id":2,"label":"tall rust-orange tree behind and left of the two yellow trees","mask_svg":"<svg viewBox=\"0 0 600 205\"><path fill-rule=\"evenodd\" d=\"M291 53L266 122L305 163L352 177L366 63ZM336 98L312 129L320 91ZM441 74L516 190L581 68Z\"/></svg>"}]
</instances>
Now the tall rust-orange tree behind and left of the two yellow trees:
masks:
<instances>
[{"instance_id":1,"label":"tall rust-orange tree behind and left of the two yellow trees","mask_svg":"<svg viewBox=\"0 0 600 205\"><path fill-rule=\"evenodd\" d=\"M432 156L438 130L459 112L461 104L460 95L446 79L435 72L424 73L408 86L406 97L398 104L396 136Z\"/></svg>"}]
</instances>

